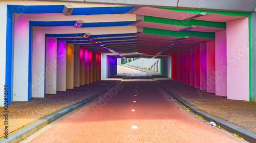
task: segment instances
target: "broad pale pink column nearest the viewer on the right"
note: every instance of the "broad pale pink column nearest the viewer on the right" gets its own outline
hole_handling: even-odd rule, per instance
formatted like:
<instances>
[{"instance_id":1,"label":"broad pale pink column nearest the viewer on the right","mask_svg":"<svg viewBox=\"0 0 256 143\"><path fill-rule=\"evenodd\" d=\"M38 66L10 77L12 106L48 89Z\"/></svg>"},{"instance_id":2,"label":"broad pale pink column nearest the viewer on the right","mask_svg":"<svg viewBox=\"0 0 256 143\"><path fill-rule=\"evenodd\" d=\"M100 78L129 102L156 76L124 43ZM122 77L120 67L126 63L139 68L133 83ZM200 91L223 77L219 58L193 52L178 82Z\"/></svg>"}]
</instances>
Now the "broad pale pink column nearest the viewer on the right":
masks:
<instances>
[{"instance_id":1,"label":"broad pale pink column nearest the viewer on the right","mask_svg":"<svg viewBox=\"0 0 256 143\"><path fill-rule=\"evenodd\" d=\"M250 100L248 17L227 22L227 98Z\"/></svg>"}]
</instances>

